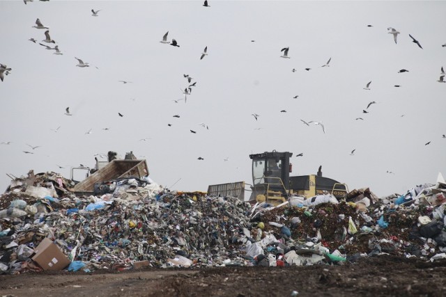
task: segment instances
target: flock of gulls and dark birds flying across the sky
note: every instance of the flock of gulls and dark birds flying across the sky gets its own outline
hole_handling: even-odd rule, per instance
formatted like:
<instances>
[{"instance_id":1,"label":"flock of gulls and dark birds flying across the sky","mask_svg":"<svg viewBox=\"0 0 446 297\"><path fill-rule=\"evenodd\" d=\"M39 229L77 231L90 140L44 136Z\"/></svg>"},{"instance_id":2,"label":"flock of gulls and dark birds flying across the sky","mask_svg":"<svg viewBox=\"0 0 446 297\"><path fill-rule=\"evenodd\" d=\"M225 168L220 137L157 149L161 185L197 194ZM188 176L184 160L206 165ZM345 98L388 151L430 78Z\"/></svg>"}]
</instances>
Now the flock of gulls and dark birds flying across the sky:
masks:
<instances>
[{"instance_id":1,"label":"flock of gulls and dark birds flying across the sky","mask_svg":"<svg viewBox=\"0 0 446 297\"><path fill-rule=\"evenodd\" d=\"M39 1L49 1L49 0L39 0ZM27 2L33 2L33 0L24 0L24 3L25 3L25 4L26 4ZM204 1L204 2L203 2L203 6L205 6L205 7L207 7L207 8L210 7L209 4L208 4L208 1ZM94 9L91 9L91 15L92 15L93 17L98 17L100 11L101 11L101 10L94 10ZM372 25L367 25L367 26L368 26L368 27L372 27ZM38 30L45 30L45 31L44 31L45 39L43 39L43 40L41 40L40 42L38 42L38 40L36 40L35 38L30 38L29 41L31 41L31 42L33 42L33 43L38 43L39 45L45 47L45 49L47 49L47 50L49 50L49 51L54 51L53 54L55 54L55 55L63 55L63 52L59 49L59 45L56 45L56 41L53 40L52 37L51 37L51 35L49 34L49 27L48 27L48 26L45 26L45 25L40 21L40 19L36 19L35 25L32 26L32 27L35 28L35 29L38 29ZM390 33L390 34L392 35L395 44L397 44L397 42L398 42L398 35L401 34L401 33L400 33L397 29L394 29L394 28L392 28L392 27L388 27L388 28L387 28L387 31L388 31L387 33ZM409 35L409 38L412 40L412 42L413 42L415 45L417 45L417 47L419 47L420 49L423 49L423 47L422 47L422 45L420 44L420 41L419 41L419 40L415 39L415 38L413 37L413 35L410 35L410 34L408 34L408 35ZM177 48L179 48L180 45L179 45L179 43L177 42L177 40L174 39L174 38L169 39L168 36L169 36L169 31L167 31L166 33L164 33L164 35L162 35L162 39L160 40L160 43L162 43L162 44L164 44L164 45L171 45L172 47L177 47ZM252 41L252 42L255 42L255 40L251 40L251 41ZM445 45L442 45L442 47L446 47L446 44L445 44ZM285 58L285 59L290 59L290 58L291 58L291 56L289 56L289 53L290 53L290 47L283 47L282 49L280 49L280 53L281 53L281 55L279 56L280 58ZM203 60L203 58L205 58L206 56L208 56L208 46L204 47L203 51L201 52L201 55L199 56L199 60ZM77 57L75 57L75 59L76 59L77 62L78 62L78 63L75 65L76 67L84 68L84 67L90 67L90 66L91 66L90 63L84 62L81 58L77 58ZM330 62L331 62L331 60L332 60L332 58L330 57L326 63L324 63L323 65L321 65L321 67L330 67ZM96 68L98 68L98 67L96 67ZM304 70L306 70L306 71L308 72L308 71L312 70L312 68L310 68L310 67L306 67L306 68L304 68ZM3 81L3 79L4 79L8 74L11 73L11 71L12 71L12 70L11 70L10 67L8 67L7 65L4 65L4 64L1 64L1 63L0 63L0 80ZM297 70L295 70L295 68L293 68L291 71L292 71L292 72L296 72ZM409 72L409 71L406 70L406 69L401 69L401 70L398 71L398 73L404 73L404 72ZM446 75L446 74L445 74L445 71L444 71L443 66L442 66L442 67L440 68L440 77L438 78L437 81L438 81L439 83L446 83L446 81L445 81L445 79L444 79L445 75ZM190 96L190 95L192 94L192 88L194 88L195 86L197 86L197 81L192 82L193 78L190 77L189 74L183 74L183 77L187 80L188 85L187 85L184 89L183 89L183 88L180 88L180 91L181 91L181 93L183 94L183 97L180 98L180 99L174 99L173 101L174 101L174 103L176 103L176 104L177 104L178 102L180 102L181 100L184 100L184 102L186 103L186 102L187 102L187 96ZM121 82L121 83L123 83L123 84L132 83L132 81L124 81L124 80L120 80L119 82ZM371 90L371 83L372 83L372 81L369 81L369 82L365 85L365 87L364 87L363 89L364 89L364 90ZM395 87L395 88L400 88L401 85L394 85L394 87ZM293 97L293 99L297 99L298 97L299 97L298 95L295 95L295 96ZM371 101L371 102L369 102L369 104L367 104L367 107L366 107L365 109L362 110L362 113L364 113L364 114L365 114L365 113L369 113L369 108L370 108L371 105L373 105L373 104L377 104L377 102L375 102L375 101ZM286 110L285 110L285 109L282 109L280 112L281 112L281 113L286 113ZM67 108L66 108L64 114L67 115L67 116L72 116L72 113L70 113L70 107L67 107ZM118 116L122 118L124 115L123 115L123 113L118 113ZM254 120L256 120L256 121L259 120L260 115L259 115L258 113L252 113L252 116L254 117ZM173 115L173 117L174 117L174 118L180 118L180 115L176 114L176 115ZM364 118L355 118L355 120L364 120ZM302 120L302 119L300 119L300 121L301 121L304 125L307 125L307 126L310 126L310 124L312 124L312 125L317 125L317 126L321 127L323 133L325 134L325 131L326 131L326 130L325 130L325 125L323 124L322 121L320 121L320 120L310 120L310 121L306 121L306 120ZM169 123L168 126L171 127L172 124ZM199 123L199 126L205 128L205 129L209 129L208 125L206 125L206 124L203 123L203 122ZM56 129L52 129L52 131L57 132L57 131L59 131L59 129L60 129L60 126L57 127ZM104 129L104 130L108 130L109 128L102 128L102 129ZM260 128L258 128L258 129L260 129ZM89 131L86 131L85 134L91 134L92 132L93 132L93 128L89 129ZM195 131L195 130L193 130L193 129L190 129L190 133L192 133L192 134L197 134L197 131ZM443 134L442 138L446 138L445 134ZM141 138L140 141L147 141L148 139L150 139L150 138ZM0 143L0 144L1 144L1 145L9 145L10 143L11 143L10 141L6 141L6 142L2 142L2 143ZM430 143L431 143L431 141L425 143L424 145L429 145ZM31 151L30 151L30 150L24 150L23 152L24 152L25 154L33 154L33 150L36 150L38 147L40 147L40 146L38 146L38 145L37 145L37 146L33 146L33 145L29 145L29 144L26 144L26 145L28 145L29 147L31 147ZM355 151L356 151L356 149L351 150L350 155L353 156L353 155L355 154ZM105 155L104 155L104 156L105 156ZM303 153L296 154L296 156L303 156ZM229 159L229 158L226 157L226 158L224 159L224 161L228 161L228 159ZM198 160L202 161L202 160L204 160L204 158L203 158L202 156L199 156ZM59 168L62 168L62 167L59 166ZM388 170L387 170L387 173L392 173L392 174L394 174L393 172L388 171Z\"/></svg>"}]
</instances>

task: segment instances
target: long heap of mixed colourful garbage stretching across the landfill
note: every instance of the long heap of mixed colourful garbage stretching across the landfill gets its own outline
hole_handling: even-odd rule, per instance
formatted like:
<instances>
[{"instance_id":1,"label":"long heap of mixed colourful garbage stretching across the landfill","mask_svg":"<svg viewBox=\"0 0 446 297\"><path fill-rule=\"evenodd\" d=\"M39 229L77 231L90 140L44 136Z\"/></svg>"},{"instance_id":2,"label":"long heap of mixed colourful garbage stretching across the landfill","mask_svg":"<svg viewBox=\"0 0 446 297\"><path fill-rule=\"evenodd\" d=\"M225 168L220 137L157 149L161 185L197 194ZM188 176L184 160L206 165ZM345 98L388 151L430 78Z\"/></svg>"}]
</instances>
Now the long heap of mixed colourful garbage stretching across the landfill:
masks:
<instances>
[{"instance_id":1,"label":"long heap of mixed colourful garbage stretching across the landfill","mask_svg":"<svg viewBox=\"0 0 446 297\"><path fill-rule=\"evenodd\" d=\"M151 179L109 181L95 187L99 195L70 187L54 172L11 182L0 196L0 273L446 257L444 179L383 199L365 188L277 207L169 191Z\"/></svg>"}]
</instances>

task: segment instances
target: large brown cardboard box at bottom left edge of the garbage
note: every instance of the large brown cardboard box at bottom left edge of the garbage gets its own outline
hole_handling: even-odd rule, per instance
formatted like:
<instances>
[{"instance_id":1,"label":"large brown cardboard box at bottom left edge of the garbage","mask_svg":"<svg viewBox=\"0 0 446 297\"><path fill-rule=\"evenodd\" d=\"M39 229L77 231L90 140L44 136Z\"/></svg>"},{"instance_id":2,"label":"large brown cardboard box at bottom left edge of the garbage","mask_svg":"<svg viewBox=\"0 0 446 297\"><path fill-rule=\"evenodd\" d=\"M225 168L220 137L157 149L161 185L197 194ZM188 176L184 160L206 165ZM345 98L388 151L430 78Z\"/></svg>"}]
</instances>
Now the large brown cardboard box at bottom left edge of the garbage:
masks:
<instances>
[{"instance_id":1,"label":"large brown cardboard box at bottom left edge of the garbage","mask_svg":"<svg viewBox=\"0 0 446 297\"><path fill-rule=\"evenodd\" d=\"M36 254L31 259L37 262L43 270L62 270L70 265L70 259L63 254L59 246L46 237L40 241L34 251Z\"/></svg>"}]
</instances>

